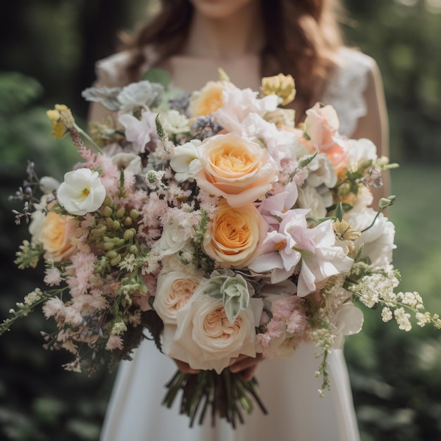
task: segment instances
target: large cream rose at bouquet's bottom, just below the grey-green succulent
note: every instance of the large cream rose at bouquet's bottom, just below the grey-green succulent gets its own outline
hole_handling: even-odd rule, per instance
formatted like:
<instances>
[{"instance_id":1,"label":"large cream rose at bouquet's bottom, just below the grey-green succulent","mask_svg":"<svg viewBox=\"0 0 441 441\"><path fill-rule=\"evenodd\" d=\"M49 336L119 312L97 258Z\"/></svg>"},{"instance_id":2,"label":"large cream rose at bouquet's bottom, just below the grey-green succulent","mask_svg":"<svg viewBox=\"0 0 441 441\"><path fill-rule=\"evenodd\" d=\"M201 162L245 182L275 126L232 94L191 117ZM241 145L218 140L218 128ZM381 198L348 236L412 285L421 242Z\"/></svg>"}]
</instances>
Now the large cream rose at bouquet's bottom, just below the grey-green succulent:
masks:
<instances>
[{"instance_id":1,"label":"large cream rose at bouquet's bottom, just below the grey-green succulent","mask_svg":"<svg viewBox=\"0 0 441 441\"><path fill-rule=\"evenodd\" d=\"M199 285L200 287L201 285ZM165 325L163 349L166 355L180 359L195 369L215 369L221 373L230 359L245 354L256 356L256 326L263 303L250 299L234 323L225 314L222 300L199 289L176 315L177 326Z\"/></svg>"}]
</instances>

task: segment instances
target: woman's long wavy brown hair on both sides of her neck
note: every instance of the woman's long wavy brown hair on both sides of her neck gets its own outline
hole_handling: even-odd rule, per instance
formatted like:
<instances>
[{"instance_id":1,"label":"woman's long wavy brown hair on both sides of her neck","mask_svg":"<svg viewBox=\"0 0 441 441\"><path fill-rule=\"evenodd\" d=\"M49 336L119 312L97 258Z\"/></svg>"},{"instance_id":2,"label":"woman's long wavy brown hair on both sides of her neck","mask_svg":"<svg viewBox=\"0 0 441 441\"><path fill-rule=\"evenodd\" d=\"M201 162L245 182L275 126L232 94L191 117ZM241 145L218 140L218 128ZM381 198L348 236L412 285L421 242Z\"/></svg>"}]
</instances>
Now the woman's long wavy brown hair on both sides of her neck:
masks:
<instances>
[{"instance_id":1,"label":"woman's long wavy brown hair on both sides of her neck","mask_svg":"<svg viewBox=\"0 0 441 441\"><path fill-rule=\"evenodd\" d=\"M290 73L295 81L295 104L300 114L320 97L325 81L335 66L335 54L342 43L340 0L261 0L265 17L266 46L261 53L262 76ZM132 37L125 49L132 50L128 65L130 80L137 80L151 46L157 63L178 54L185 44L192 21L188 0L161 0L154 18Z\"/></svg>"}]
</instances>

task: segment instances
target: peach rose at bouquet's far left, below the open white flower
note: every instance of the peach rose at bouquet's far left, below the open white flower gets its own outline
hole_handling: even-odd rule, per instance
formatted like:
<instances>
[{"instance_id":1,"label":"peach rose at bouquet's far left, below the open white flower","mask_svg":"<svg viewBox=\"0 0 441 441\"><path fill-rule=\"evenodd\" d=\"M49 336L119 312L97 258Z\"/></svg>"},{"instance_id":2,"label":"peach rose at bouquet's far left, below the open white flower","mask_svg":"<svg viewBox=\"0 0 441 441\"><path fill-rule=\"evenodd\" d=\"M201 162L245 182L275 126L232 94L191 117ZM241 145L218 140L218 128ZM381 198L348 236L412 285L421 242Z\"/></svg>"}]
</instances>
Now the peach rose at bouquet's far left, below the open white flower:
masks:
<instances>
[{"instance_id":1,"label":"peach rose at bouquet's far left, below the open white flower","mask_svg":"<svg viewBox=\"0 0 441 441\"><path fill-rule=\"evenodd\" d=\"M77 230L71 216L63 216L49 211L35 239L43 244L44 259L61 262L75 253L77 247L73 244L72 239L80 237L80 235L81 232Z\"/></svg>"}]
</instances>

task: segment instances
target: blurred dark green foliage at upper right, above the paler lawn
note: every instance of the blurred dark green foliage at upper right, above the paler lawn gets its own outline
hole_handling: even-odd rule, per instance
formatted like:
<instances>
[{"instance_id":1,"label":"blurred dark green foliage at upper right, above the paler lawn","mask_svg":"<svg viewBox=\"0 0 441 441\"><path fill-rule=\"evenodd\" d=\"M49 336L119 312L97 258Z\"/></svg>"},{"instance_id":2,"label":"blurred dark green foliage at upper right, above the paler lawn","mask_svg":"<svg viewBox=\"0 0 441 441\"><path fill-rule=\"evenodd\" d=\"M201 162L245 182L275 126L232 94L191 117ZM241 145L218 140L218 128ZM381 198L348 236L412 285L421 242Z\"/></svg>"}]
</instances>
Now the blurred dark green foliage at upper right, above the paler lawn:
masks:
<instances>
[{"instance_id":1,"label":"blurred dark green foliage at upper right, above the paler lawn","mask_svg":"<svg viewBox=\"0 0 441 441\"><path fill-rule=\"evenodd\" d=\"M391 157L441 161L441 8L424 0L346 0L349 44L373 56L383 76Z\"/></svg>"}]
</instances>

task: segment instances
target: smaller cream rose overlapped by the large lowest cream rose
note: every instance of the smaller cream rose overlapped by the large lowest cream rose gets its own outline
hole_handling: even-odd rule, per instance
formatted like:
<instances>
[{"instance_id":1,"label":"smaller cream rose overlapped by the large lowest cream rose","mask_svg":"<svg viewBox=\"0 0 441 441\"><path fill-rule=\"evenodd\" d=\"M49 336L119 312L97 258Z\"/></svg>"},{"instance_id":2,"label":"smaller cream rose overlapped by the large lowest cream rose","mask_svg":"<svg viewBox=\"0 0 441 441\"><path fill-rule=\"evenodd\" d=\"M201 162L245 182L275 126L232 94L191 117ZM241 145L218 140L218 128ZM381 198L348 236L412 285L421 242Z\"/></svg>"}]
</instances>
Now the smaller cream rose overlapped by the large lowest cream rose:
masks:
<instances>
[{"instance_id":1,"label":"smaller cream rose overlapped by the large lowest cream rose","mask_svg":"<svg viewBox=\"0 0 441 441\"><path fill-rule=\"evenodd\" d=\"M164 323L176 324L176 313L192 298L200 280L183 271L159 273L153 307Z\"/></svg>"}]
</instances>

